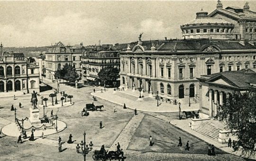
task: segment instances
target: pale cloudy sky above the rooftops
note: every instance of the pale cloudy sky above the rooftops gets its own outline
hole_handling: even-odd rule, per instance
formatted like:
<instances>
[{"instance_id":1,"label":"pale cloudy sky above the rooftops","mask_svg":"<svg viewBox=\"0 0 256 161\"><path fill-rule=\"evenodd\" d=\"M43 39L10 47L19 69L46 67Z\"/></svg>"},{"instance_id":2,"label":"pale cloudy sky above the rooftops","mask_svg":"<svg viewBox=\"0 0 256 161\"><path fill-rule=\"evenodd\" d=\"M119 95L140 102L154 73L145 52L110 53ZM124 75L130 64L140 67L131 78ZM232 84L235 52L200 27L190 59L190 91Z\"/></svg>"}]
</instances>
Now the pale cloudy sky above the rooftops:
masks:
<instances>
[{"instance_id":1,"label":"pale cloudy sky above the rooftops","mask_svg":"<svg viewBox=\"0 0 256 161\"><path fill-rule=\"evenodd\" d=\"M256 11L256 0L247 0ZM243 8L245 0L221 0ZM181 38L180 26L217 0L167 1L0 1L0 41L5 47L116 44Z\"/></svg>"}]
</instances>

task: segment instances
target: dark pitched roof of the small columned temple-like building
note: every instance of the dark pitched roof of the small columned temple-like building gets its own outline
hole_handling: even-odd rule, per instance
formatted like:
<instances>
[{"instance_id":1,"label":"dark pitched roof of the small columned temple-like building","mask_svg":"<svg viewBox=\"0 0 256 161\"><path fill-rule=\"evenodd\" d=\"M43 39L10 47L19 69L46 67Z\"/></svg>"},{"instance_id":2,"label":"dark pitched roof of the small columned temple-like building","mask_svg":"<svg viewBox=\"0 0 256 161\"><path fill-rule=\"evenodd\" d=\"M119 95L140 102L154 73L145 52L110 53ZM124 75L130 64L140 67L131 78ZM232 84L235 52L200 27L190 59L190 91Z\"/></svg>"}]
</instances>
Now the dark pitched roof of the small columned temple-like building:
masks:
<instances>
[{"instance_id":1,"label":"dark pitched roof of the small columned temple-like building","mask_svg":"<svg viewBox=\"0 0 256 161\"><path fill-rule=\"evenodd\" d=\"M249 83L256 82L256 72L252 70L240 70L240 71L226 71L207 75L210 79L205 82L213 82L223 78L223 80L228 80L230 83L234 84L238 88L250 88Z\"/></svg>"}]
</instances>

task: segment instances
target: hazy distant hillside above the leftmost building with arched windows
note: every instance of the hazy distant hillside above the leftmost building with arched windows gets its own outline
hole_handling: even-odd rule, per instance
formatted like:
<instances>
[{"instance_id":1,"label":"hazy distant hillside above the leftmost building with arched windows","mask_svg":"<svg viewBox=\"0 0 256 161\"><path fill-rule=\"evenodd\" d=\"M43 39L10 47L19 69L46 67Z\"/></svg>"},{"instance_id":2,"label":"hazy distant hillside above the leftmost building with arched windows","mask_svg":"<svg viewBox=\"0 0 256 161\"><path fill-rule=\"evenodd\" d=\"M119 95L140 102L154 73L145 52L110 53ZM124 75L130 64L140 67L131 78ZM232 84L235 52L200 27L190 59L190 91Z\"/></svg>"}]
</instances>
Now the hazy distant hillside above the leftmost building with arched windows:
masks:
<instances>
[{"instance_id":1,"label":"hazy distant hillside above the leftmost building with arched windows","mask_svg":"<svg viewBox=\"0 0 256 161\"><path fill-rule=\"evenodd\" d=\"M24 53L25 57L37 57L41 53L46 52L47 46L43 47L3 47L3 52L19 52Z\"/></svg>"}]
</instances>

